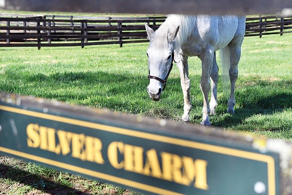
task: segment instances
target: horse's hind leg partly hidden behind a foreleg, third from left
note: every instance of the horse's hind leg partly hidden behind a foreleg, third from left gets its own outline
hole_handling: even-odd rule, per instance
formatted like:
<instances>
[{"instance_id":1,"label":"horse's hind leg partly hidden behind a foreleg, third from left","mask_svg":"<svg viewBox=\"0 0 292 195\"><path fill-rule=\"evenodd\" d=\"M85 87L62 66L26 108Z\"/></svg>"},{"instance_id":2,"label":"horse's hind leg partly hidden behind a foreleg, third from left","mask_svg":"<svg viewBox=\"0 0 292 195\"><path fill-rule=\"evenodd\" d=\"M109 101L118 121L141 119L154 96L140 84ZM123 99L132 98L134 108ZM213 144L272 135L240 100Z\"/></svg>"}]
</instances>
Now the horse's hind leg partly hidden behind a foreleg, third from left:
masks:
<instances>
[{"instance_id":1,"label":"horse's hind leg partly hidden behind a foreleg, third from left","mask_svg":"<svg viewBox=\"0 0 292 195\"><path fill-rule=\"evenodd\" d=\"M215 115L217 107L217 83L218 83L218 64L216 62L216 52L214 52L213 65L211 69L211 99L210 99L210 115Z\"/></svg>"}]
</instances>

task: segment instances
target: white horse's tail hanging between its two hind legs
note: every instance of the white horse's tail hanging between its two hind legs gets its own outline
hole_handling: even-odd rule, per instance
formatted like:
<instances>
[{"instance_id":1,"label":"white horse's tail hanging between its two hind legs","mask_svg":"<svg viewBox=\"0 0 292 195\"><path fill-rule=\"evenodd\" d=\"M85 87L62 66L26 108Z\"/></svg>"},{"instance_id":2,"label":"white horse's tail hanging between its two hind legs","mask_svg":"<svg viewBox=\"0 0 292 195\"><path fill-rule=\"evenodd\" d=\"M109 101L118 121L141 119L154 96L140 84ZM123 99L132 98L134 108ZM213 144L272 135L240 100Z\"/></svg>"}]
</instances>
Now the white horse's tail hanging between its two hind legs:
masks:
<instances>
[{"instance_id":1,"label":"white horse's tail hanging between its two hind legs","mask_svg":"<svg viewBox=\"0 0 292 195\"><path fill-rule=\"evenodd\" d=\"M228 93L230 79L229 79L229 68L230 68L230 51L229 46L226 45L220 50L220 62L222 67L222 86L223 92Z\"/></svg>"}]
</instances>

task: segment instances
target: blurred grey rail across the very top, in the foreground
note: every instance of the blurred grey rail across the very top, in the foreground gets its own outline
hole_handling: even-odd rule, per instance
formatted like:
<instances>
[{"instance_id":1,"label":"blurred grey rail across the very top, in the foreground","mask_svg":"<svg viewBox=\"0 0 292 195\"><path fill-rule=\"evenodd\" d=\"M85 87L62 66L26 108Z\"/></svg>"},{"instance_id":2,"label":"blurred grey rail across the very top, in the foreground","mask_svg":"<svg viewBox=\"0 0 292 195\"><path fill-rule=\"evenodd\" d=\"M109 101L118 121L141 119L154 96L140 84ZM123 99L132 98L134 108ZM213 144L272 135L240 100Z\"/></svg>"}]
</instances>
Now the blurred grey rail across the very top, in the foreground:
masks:
<instances>
[{"instance_id":1,"label":"blurred grey rail across the very top, in the foreground","mask_svg":"<svg viewBox=\"0 0 292 195\"><path fill-rule=\"evenodd\" d=\"M0 0L0 8L138 14L276 14L291 12L291 0Z\"/></svg>"}]
</instances>

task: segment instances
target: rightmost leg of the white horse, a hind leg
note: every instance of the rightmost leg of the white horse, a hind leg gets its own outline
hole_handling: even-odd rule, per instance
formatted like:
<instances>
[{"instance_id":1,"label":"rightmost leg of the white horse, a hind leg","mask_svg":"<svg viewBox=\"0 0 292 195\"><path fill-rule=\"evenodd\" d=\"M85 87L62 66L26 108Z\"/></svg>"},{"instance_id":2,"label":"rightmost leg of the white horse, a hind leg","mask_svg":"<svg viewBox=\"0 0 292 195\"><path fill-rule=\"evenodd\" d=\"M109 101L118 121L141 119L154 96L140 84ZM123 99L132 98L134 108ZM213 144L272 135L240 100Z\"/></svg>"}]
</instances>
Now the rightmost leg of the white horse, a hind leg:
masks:
<instances>
[{"instance_id":1,"label":"rightmost leg of the white horse, a hind leg","mask_svg":"<svg viewBox=\"0 0 292 195\"><path fill-rule=\"evenodd\" d=\"M230 97L228 100L228 108L227 112L234 114L234 106L235 106L235 83L238 77L238 62L241 55L241 42L230 42L229 50L230 50L230 68L229 68L229 78L230 78Z\"/></svg>"}]
</instances>

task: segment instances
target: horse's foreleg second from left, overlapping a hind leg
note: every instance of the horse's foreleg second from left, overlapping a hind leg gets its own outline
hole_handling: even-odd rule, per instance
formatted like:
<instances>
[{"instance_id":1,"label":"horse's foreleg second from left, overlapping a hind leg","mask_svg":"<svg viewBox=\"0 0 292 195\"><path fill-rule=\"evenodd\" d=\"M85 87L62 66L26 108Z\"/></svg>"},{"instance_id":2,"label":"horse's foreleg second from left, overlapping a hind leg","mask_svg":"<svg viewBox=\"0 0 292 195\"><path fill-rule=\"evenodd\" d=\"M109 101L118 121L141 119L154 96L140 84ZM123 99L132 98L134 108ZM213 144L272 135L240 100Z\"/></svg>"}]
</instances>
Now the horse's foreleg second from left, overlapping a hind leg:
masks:
<instances>
[{"instance_id":1,"label":"horse's foreleg second from left, overlapping a hind leg","mask_svg":"<svg viewBox=\"0 0 292 195\"><path fill-rule=\"evenodd\" d=\"M207 47L204 51L202 51L199 58L202 62L202 75L200 81L201 91L203 93L203 118L201 121L202 125L211 125L209 120L210 114L210 106L208 101L208 95L210 92L210 76L211 76L211 68L213 65L213 57L214 57L214 48Z\"/></svg>"}]
</instances>

